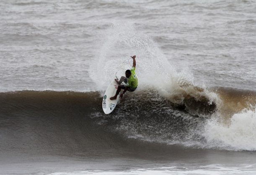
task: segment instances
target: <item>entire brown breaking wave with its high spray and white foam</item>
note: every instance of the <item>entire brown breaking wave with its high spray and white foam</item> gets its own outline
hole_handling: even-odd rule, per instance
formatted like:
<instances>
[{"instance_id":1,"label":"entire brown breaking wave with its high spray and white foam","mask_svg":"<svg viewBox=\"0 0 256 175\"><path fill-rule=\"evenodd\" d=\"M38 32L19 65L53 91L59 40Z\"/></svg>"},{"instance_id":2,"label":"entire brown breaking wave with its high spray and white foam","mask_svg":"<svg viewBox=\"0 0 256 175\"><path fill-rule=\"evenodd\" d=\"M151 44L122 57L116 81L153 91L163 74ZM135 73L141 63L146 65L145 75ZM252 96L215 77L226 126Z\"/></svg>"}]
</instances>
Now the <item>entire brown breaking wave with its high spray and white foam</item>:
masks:
<instances>
[{"instance_id":1,"label":"entire brown breaking wave with its high spray and white foam","mask_svg":"<svg viewBox=\"0 0 256 175\"><path fill-rule=\"evenodd\" d=\"M255 113L256 92L197 85L189 70L176 70L158 45L129 23L114 24L99 45L97 59L88 70L98 91L0 93L1 150L100 155L126 146L134 148L141 141L150 148L159 143L167 149L182 145L256 150L250 136L253 125L240 136L230 134L240 130L238 123L243 127L246 121L254 123L255 117L248 116ZM122 75L132 65L125 58L127 50L139 53L139 86L105 115L103 90L113 75ZM226 139L229 137L235 141ZM240 140L249 143L248 147L236 144Z\"/></svg>"}]
</instances>

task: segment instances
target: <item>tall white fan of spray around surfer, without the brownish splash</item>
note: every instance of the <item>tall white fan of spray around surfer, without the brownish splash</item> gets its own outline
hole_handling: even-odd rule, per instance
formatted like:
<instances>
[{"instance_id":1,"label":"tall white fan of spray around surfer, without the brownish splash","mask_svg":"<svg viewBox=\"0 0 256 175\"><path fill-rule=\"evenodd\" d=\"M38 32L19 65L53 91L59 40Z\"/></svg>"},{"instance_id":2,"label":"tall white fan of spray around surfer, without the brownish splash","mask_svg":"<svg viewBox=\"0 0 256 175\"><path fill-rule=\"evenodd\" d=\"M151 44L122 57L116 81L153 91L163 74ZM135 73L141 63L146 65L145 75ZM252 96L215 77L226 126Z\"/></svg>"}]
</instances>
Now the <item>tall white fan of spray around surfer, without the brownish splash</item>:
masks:
<instances>
[{"instance_id":1,"label":"tall white fan of spray around surfer, without the brownish splash","mask_svg":"<svg viewBox=\"0 0 256 175\"><path fill-rule=\"evenodd\" d=\"M114 24L106 31L98 57L90 69L90 76L105 90L117 72L124 75L132 66L131 55L137 55L136 73L139 89L170 87L176 70L168 62L158 45L146 34L136 30L132 24Z\"/></svg>"}]
</instances>

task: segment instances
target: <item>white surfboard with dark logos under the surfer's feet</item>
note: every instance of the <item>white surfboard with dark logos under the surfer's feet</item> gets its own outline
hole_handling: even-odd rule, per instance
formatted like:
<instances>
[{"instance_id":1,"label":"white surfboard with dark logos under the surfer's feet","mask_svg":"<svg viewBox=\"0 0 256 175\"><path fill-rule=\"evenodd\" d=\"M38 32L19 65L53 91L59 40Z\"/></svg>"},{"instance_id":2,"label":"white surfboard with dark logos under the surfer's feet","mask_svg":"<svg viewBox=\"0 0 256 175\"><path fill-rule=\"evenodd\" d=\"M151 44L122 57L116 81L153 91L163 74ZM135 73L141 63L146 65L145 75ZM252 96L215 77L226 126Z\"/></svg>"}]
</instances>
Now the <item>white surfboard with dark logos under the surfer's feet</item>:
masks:
<instances>
[{"instance_id":1,"label":"white surfboard with dark logos under the surfer's feet","mask_svg":"<svg viewBox=\"0 0 256 175\"><path fill-rule=\"evenodd\" d=\"M118 83L116 81L111 82L103 96L102 109L105 114L111 113L116 107L120 93L117 95L116 100L110 100L109 98L116 95L117 87Z\"/></svg>"}]
</instances>

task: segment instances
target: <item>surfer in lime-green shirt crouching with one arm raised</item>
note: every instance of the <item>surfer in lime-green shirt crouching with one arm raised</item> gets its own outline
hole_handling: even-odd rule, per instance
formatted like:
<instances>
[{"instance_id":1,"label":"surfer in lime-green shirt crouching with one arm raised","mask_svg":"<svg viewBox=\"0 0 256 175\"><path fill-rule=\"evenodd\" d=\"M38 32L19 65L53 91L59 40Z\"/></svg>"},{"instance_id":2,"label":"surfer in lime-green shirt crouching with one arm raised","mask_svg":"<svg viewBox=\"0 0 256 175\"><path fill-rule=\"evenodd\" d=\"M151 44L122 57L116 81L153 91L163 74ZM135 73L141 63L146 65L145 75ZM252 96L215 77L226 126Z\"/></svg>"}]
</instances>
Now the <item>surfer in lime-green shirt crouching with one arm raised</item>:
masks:
<instances>
[{"instance_id":1,"label":"surfer in lime-green shirt crouching with one arm raised","mask_svg":"<svg viewBox=\"0 0 256 175\"><path fill-rule=\"evenodd\" d=\"M136 67L136 55L132 56L133 63L132 63L132 69L125 71L125 77L122 76L120 80L118 81L115 79L115 81L119 84L116 90L116 95L113 97L110 97L110 100L115 100L121 89L124 91L120 94L120 98L123 97L124 93L128 90L129 92L133 92L136 90L138 85L138 77L135 73L135 67ZM121 85L122 82L125 82L126 85Z\"/></svg>"}]
</instances>

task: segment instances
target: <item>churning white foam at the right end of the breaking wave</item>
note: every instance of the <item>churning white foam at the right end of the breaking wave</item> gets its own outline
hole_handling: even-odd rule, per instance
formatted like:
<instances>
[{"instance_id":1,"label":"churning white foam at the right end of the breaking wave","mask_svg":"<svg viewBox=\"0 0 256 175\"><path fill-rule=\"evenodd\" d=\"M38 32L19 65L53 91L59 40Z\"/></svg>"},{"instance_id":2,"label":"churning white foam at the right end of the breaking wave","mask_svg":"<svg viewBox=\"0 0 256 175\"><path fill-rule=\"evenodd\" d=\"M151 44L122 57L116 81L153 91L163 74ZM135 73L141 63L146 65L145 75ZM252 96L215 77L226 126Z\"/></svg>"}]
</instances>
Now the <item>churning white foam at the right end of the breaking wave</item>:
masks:
<instances>
[{"instance_id":1,"label":"churning white foam at the right end of the breaking wave","mask_svg":"<svg viewBox=\"0 0 256 175\"><path fill-rule=\"evenodd\" d=\"M210 148L225 150L256 150L256 110L244 109L234 114L229 125L208 120L204 137Z\"/></svg>"}]
</instances>

